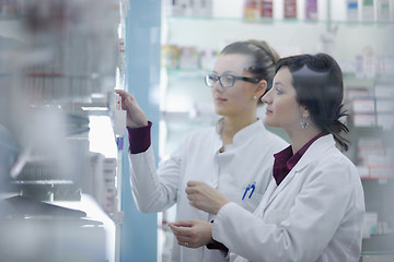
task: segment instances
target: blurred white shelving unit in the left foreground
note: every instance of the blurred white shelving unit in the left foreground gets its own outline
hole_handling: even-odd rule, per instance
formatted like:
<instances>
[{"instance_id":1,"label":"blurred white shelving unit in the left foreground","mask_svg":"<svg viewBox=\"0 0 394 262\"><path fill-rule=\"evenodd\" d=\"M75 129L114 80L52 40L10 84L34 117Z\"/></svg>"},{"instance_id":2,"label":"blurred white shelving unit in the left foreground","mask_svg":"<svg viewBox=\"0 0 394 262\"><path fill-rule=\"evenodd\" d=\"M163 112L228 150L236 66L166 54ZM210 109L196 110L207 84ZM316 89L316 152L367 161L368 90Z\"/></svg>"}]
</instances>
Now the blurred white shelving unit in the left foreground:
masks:
<instances>
[{"instance_id":1,"label":"blurred white shelving unit in the left foreground","mask_svg":"<svg viewBox=\"0 0 394 262\"><path fill-rule=\"evenodd\" d=\"M119 261L121 8L0 2L4 261Z\"/></svg>"}]
</instances>

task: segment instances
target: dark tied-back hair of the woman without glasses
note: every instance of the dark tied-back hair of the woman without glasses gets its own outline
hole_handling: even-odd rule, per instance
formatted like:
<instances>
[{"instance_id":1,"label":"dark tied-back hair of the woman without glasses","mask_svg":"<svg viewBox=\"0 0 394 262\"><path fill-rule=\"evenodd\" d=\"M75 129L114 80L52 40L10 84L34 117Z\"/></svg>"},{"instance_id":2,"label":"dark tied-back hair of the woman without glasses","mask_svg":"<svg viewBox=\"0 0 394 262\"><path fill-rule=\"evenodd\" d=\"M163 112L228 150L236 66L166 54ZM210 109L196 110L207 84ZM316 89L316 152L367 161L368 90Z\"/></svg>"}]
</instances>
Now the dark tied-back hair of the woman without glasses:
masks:
<instances>
[{"instance_id":1,"label":"dark tied-back hair of the woman without glasses","mask_svg":"<svg viewBox=\"0 0 394 262\"><path fill-rule=\"evenodd\" d=\"M340 135L349 129L339 121L348 115L343 111L344 82L338 63L326 53L316 53L279 59L276 72L282 67L290 70L297 100L310 111L312 121L347 151L349 141Z\"/></svg>"}]
</instances>

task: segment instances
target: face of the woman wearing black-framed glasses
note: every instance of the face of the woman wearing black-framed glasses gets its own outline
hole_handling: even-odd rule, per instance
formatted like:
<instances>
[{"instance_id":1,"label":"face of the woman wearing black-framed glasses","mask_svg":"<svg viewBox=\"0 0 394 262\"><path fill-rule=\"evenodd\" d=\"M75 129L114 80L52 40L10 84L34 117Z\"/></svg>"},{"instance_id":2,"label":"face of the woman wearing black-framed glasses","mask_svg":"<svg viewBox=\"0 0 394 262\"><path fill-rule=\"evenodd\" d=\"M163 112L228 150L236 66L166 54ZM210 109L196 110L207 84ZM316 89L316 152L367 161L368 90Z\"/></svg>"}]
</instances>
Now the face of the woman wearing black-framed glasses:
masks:
<instances>
[{"instance_id":1,"label":"face of the woman wearing black-framed glasses","mask_svg":"<svg viewBox=\"0 0 394 262\"><path fill-rule=\"evenodd\" d=\"M248 67L248 57L244 55L220 55L215 63L212 75L234 75L253 78L244 69ZM216 82L211 88L215 111L220 116L234 116L255 110L254 95L256 84L235 80L233 86L222 87Z\"/></svg>"}]
</instances>

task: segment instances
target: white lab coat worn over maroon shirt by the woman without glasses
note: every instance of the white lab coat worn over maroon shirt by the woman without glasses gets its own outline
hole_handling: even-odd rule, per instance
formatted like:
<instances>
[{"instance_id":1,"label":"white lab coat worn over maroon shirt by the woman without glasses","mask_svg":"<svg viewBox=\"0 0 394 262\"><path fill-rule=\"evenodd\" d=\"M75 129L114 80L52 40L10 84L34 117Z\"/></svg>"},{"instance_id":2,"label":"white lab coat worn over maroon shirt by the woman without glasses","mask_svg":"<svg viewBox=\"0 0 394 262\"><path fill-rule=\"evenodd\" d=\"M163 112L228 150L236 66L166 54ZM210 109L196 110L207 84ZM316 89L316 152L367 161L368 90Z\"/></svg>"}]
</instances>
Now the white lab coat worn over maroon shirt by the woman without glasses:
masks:
<instances>
[{"instance_id":1,"label":"white lab coat worn over maroon shirt by the woman without glasses","mask_svg":"<svg viewBox=\"0 0 394 262\"><path fill-rule=\"evenodd\" d=\"M212 225L231 261L358 262L364 199L354 164L332 134L316 140L254 214L224 205Z\"/></svg>"}]
</instances>

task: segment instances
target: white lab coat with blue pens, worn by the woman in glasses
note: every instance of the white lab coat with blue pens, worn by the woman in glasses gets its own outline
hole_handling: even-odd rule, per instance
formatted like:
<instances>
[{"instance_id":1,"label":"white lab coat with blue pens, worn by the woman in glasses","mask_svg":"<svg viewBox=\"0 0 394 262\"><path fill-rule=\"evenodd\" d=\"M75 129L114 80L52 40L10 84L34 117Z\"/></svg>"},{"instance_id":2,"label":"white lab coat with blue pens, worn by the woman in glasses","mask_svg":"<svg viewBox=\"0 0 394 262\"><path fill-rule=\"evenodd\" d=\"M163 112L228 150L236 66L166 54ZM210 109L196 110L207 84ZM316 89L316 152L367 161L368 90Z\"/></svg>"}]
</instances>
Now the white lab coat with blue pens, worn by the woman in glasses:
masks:
<instances>
[{"instance_id":1,"label":"white lab coat with blue pens, worn by the woman in glasses","mask_svg":"<svg viewBox=\"0 0 394 262\"><path fill-rule=\"evenodd\" d=\"M217 123L220 129L221 120ZM152 148L140 154L129 154L131 188L138 209L143 213L161 212L177 204L176 221L213 217L189 205L185 188L189 180L199 180L215 187L231 201L254 211L271 179L274 154L288 146L279 136L267 131L260 120L240 130L233 143L222 146L215 127L188 134L170 159L157 170ZM255 183L255 190L245 189ZM250 198L251 195L251 198ZM174 242L171 261L201 262L225 261L218 250L189 249Z\"/></svg>"}]
</instances>

